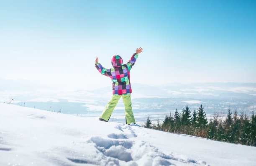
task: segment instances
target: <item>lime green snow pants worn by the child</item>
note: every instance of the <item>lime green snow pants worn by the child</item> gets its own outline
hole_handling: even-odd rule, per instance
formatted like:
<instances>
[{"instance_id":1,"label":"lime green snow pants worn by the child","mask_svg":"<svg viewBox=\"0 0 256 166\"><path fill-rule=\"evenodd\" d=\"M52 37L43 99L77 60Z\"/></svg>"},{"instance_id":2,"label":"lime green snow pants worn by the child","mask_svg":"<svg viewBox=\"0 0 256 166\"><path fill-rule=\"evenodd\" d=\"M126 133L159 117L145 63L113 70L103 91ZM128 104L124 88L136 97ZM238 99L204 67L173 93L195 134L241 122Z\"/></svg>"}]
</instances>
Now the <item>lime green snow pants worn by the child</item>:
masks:
<instances>
[{"instance_id":1,"label":"lime green snow pants worn by the child","mask_svg":"<svg viewBox=\"0 0 256 166\"><path fill-rule=\"evenodd\" d=\"M109 120L115 106L118 103L118 100L123 97L123 104L125 106L125 119L126 124L135 123L135 119L133 116L133 110L131 107L131 94L123 94L123 95L116 95L113 94L110 102L106 105L104 111L100 115L100 118L107 121Z\"/></svg>"}]
</instances>

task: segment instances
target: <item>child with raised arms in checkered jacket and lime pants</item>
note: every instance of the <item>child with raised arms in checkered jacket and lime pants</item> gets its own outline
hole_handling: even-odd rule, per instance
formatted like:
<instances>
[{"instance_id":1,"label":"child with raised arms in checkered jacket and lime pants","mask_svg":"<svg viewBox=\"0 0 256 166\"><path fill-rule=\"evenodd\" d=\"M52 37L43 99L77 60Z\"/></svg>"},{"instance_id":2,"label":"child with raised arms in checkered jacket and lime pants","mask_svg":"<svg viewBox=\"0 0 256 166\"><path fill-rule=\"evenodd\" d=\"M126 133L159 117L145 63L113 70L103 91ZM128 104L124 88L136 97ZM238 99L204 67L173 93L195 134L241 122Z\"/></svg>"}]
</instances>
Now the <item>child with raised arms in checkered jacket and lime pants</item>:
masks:
<instances>
[{"instance_id":1,"label":"child with raised arms in checkered jacket and lime pants","mask_svg":"<svg viewBox=\"0 0 256 166\"><path fill-rule=\"evenodd\" d=\"M136 49L136 53L133 54L131 59L127 64L123 64L123 59L119 55L113 56L111 63L113 68L105 69L102 67L100 63L98 63L98 57L95 60L95 67L105 76L110 77L113 81L113 95L106 105L104 111L100 115L100 119L102 121L108 122L115 106L118 103L118 100L123 97L123 104L125 106L125 121L126 124L135 123L135 119L133 116L133 110L131 107L131 82L130 82L130 71L132 66L134 65L136 59L138 58L138 54L142 52L142 48ZM122 65L123 64L123 65Z\"/></svg>"}]
</instances>

